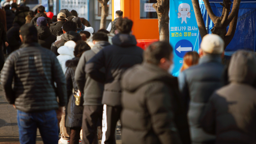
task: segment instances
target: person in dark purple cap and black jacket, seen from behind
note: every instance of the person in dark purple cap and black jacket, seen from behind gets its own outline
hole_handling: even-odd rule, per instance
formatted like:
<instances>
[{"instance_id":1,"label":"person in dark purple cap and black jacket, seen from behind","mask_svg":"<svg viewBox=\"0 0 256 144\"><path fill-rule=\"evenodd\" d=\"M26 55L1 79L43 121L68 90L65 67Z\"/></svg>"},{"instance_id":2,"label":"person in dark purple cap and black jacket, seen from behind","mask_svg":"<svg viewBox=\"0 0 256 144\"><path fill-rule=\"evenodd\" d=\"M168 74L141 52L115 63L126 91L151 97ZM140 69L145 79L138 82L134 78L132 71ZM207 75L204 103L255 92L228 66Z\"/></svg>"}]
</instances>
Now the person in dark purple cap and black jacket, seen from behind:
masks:
<instances>
[{"instance_id":1,"label":"person in dark purple cap and black jacket, seen from behind","mask_svg":"<svg viewBox=\"0 0 256 144\"><path fill-rule=\"evenodd\" d=\"M45 17L39 17L36 20L36 23L38 43L41 44L42 47L48 48L50 50L52 43L56 41L56 36L51 34Z\"/></svg>"}]
</instances>

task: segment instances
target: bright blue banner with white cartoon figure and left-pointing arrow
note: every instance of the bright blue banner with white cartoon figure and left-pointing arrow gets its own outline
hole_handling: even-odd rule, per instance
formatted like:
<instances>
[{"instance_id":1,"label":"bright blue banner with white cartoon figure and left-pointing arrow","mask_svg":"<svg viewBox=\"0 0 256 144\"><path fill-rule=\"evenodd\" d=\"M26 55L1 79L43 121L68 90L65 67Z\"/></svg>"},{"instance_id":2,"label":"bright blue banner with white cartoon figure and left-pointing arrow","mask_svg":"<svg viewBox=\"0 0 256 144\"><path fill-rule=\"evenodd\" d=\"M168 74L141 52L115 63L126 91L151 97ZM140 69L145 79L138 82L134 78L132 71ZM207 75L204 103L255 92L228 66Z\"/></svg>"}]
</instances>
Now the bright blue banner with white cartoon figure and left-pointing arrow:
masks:
<instances>
[{"instance_id":1,"label":"bright blue banner with white cartoon figure and left-pointing arrow","mask_svg":"<svg viewBox=\"0 0 256 144\"><path fill-rule=\"evenodd\" d=\"M173 47L173 76L180 74L187 52L198 52L199 30L191 0L170 0L170 44Z\"/></svg>"}]
</instances>

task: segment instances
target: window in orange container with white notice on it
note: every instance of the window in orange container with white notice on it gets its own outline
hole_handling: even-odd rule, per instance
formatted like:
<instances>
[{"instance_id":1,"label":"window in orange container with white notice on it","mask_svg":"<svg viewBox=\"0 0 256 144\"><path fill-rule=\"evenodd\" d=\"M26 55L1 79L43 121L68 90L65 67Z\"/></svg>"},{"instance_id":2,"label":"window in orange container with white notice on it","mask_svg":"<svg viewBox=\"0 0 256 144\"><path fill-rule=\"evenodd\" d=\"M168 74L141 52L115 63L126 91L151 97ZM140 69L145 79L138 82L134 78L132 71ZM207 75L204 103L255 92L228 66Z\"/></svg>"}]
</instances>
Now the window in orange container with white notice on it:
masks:
<instances>
[{"instance_id":1,"label":"window in orange container with white notice on it","mask_svg":"<svg viewBox=\"0 0 256 144\"><path fill-rule=\"evenodd\" d=\"M157 3L157 0L140 0L140 18L141 19L157 18L156 10L152 6L155 3Z\"/></svg>"}]
</instances>

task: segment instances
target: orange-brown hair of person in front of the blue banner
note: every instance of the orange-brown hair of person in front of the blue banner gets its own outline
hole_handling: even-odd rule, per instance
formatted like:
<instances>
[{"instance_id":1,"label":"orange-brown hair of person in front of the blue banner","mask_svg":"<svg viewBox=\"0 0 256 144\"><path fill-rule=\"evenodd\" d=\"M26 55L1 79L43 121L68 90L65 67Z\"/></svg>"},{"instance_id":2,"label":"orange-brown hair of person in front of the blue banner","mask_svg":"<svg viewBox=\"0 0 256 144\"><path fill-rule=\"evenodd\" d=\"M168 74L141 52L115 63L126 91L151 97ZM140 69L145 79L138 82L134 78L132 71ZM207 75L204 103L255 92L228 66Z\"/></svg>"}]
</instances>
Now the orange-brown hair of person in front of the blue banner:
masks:
<instances>
[{"instance_id":1,"label":"orange-brown hair of person in front of the blue banner","mask_svg":"<svg viewBox=\"0 0 256 144\"><path fill-rule=\"evenodd\" d=\"M182 72L183 70L186 70L190 66L198 64L198 60L199 60L199 54L197 52L187 52L184 55L183 66L180 71Z\"/></svg>"}]
</instances>

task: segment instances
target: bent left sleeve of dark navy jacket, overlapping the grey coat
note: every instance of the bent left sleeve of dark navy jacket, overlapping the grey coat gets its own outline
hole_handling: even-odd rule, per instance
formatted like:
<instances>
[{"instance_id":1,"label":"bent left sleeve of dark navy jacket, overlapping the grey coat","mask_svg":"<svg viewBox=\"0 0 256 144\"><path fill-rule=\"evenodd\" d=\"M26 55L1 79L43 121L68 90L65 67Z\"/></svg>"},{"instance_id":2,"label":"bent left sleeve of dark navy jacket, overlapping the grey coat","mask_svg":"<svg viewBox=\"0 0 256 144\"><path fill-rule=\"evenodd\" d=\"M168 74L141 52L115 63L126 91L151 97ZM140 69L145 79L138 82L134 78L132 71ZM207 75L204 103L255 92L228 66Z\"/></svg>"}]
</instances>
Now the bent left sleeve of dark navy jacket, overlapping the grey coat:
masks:
<instances>
[{"instance_id":1,"label":"bent left sleeve of dark navy jacket, overlapping the grey coat","mask_svg":"<svg viewBox=\"0 0 256 144\"><path fill-rule=\"evenodd\" d=\"M91 58L86 63L85 72L89 74L89 76L96 80L97 82L104 83L106 81L106 76L103 72L100 71L102 67L105 65L105 54L104 49L100 50L93 58Z\"/></svg>"}]
</instances>

